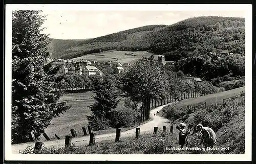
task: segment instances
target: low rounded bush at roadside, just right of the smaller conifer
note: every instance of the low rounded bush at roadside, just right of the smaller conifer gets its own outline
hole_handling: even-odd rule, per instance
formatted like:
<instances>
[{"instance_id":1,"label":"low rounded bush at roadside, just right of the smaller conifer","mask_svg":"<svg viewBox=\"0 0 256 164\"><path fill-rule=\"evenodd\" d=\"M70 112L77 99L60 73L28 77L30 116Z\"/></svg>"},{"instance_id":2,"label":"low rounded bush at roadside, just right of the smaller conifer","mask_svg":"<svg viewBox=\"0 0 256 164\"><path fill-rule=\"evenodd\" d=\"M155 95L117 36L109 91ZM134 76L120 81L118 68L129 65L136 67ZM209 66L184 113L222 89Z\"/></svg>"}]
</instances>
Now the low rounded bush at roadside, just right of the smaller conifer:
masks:
<instances>
[{"instance_id":1,"label":"low rounded bush at roadside, just right of the smaller conifer","mask_svg":"<svg viewBox=\"0 0 256 164\"><path fill-rule=\"evenodd\" d=\"M132 127L140 122L140 114L133 109L120 109L113 112L111 124L115 128Z\"/></svg>"}]
</instances>

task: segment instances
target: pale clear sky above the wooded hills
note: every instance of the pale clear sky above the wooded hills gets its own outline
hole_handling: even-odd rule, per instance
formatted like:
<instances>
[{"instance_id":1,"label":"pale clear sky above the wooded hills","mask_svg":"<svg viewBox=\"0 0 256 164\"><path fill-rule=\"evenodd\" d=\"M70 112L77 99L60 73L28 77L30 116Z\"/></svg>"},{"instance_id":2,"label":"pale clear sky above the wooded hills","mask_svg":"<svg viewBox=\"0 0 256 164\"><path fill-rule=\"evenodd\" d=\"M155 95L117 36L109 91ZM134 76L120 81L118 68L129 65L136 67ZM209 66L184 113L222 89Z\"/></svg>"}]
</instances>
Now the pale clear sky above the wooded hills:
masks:
<instances>
[{"instance_id":1,"label":"pale clear sky above the wooded hills","mask_svg":"<svg viewBox=\"0 0 256 164\"><path fill-rule=\"evenodd\" d=\"M172 25L197 16L245 17L243 11L44 10L44 33L56 39L88 39L146 25Z\"/></svg>"}]
</instances>

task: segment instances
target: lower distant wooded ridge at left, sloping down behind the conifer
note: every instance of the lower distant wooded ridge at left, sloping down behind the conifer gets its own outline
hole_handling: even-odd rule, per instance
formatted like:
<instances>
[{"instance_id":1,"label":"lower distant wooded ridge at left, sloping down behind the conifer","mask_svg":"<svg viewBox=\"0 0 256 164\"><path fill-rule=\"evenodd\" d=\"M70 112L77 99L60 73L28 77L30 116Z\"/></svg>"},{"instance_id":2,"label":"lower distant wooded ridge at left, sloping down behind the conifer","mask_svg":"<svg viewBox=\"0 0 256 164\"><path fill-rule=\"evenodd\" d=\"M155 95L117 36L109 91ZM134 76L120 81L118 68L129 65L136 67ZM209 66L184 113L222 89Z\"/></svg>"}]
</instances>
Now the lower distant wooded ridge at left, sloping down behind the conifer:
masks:
<instances>
[{"instance_id":1,"label":"lower distant wooded ridge at left, sloping down behind the conifer","mask_svg":"<svg viewBox=\"0 0 256 164\"><path fill-rule=\"evenodd\" d=\"M49 50L50 53L52 53L52 57L54 58L61 57L63 59L70 59L82 56L83 54L86 55L95 52L98 53L100 51L112 50L117 47L117 44L124 44L125 46L126 44L128 44L126 43L127 40L133 41L133 45L135 45L135 41L137 38L141 38L145 33L149 31L157 30L158 28L163 27L166 27L166 25L143 26L105 36L100 36L97 38L83 40L62 40L52 38ZM84 37L86 38L86 36ZM147 49L148 46L150 46L150 44L147 44ZM139 47L142 47L142 45L140 45Z\"/></svg>"}]
</instances>

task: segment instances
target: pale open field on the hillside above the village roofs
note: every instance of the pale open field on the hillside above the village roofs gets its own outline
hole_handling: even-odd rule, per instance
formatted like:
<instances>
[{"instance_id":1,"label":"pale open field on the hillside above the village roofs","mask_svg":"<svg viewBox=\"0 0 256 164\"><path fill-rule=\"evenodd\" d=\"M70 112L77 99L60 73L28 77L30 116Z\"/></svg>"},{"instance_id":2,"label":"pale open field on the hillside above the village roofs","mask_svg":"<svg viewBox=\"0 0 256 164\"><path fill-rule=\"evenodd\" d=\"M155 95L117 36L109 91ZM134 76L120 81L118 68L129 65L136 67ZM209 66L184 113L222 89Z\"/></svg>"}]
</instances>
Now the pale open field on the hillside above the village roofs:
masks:
<instances>
[{"instance_id":1,"label":"pale open field on the hillside above the village roofs","mask_svg":"<svg viewBox=\"0 0 256 164\"><path fill-rule=\"evenodd\" d=\"M132 55L125 55L126 54L131 54ZM97 55L104 55L104 56L97 56ZM84 55L81 57L73 58L71 60L80 60L80 59L87 59L87 60L97 60L97 61L119 61L120 63L125 63L125 62L133 62L138 60L139 58L145 56L145 57L150 57L151 53L147 51L106 51L106 52L101 52L101 53L95 53L95 54L88 54ZM157 59L158 55L154 55L155 59Z\"/></svg>"}]
</instances>

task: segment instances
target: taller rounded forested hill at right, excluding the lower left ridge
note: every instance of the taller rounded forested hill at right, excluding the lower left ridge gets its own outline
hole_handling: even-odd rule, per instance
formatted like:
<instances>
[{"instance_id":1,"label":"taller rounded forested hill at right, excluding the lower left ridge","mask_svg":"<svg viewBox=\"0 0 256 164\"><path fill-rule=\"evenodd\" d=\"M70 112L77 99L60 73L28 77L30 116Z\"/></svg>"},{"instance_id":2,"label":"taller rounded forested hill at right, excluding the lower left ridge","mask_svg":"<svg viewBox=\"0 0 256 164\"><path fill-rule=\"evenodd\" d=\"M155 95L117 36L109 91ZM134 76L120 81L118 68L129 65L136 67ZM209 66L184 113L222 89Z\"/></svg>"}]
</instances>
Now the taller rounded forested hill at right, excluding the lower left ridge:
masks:
<instances>
[{"instance_id":1,"label":"taller rounded forested hill at right, excluding the lower left ridge","mask_svg":"<svg viewBox=\"0 0 256 164\"><path fill-rule=\"evenodd\" d=\"M150 50L166 60L220 53L245 54L245 19L205 16L189 18L154 33Z\"/></svg>"}]
</instances>

